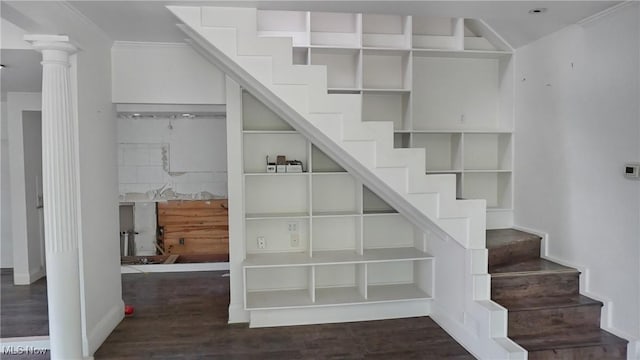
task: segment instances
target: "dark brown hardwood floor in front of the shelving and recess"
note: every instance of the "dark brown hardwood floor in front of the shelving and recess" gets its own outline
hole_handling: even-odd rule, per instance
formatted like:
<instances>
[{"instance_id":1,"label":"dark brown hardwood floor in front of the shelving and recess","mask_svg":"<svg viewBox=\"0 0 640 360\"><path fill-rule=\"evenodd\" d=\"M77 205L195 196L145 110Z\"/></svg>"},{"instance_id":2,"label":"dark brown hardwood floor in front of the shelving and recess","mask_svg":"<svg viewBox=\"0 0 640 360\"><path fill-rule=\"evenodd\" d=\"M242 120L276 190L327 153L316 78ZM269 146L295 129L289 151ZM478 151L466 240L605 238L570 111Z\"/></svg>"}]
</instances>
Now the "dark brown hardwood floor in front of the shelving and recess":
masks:
<instances>
[{"instance_id":1,"label":"dark brown hardwood floor in front of the shelving and recess","mask_svg":"<svg viewBox=\"0 0 640 360\"><path fill-rule=\"evenodd\" d=\"M262 329L229 325L224 274L123 275L123 298L135 313L118 325L95 359L474 359L429 317ZM3 327L5 280L13 287L3 274ZM42 287L46 309L46 283L36 287ZM12 316L29 317L19 303L7 306Z\"/></svg>"}]
</instances>

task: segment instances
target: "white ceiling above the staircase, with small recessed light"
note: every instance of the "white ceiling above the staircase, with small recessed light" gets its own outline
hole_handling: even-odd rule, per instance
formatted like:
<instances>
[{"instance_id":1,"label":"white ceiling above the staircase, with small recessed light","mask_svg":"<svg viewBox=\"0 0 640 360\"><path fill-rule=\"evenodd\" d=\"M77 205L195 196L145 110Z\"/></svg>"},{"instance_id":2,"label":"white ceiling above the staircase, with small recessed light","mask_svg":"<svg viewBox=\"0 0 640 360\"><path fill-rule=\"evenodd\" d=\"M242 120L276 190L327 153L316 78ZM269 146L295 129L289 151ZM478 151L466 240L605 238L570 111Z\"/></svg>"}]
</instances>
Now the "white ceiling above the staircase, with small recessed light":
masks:
<instances>
[{"instance_id":1,"label":"white ceiling above the staircase, with small recessed light","mask_svg":"<svg viewBox=\"0 0 640 360\"><path fill-rule=\"evenodd\" d=\"M485 20L514 48L575 24L619 1L71 1L113 40L179 42L184 35L164 8L170 4L261 9L367 12ZM536 7L548 11L531 15Z\"/></svg>"}]
</instances>

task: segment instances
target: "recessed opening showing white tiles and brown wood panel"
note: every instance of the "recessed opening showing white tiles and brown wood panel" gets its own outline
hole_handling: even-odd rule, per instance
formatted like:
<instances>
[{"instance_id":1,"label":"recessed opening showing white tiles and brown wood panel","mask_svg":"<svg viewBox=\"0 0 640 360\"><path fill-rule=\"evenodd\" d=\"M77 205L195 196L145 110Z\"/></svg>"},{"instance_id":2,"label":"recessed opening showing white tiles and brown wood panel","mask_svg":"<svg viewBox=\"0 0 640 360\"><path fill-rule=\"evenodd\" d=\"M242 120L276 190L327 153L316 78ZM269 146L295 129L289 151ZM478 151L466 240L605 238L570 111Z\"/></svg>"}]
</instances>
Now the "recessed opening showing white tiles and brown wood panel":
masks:
<instances>
[{"instance_id":1,"label":"recessed opening showing white tiles and brown wood panel","mask_svg":"<svg viewBox=\"0 0 640 360\"><path fill-rule=\"evenodd\" d=\"M193 269L226 270L224 111L207 105L117 107L123 272L181 264L216 264Z\"/></svg>"}]
</instances>

